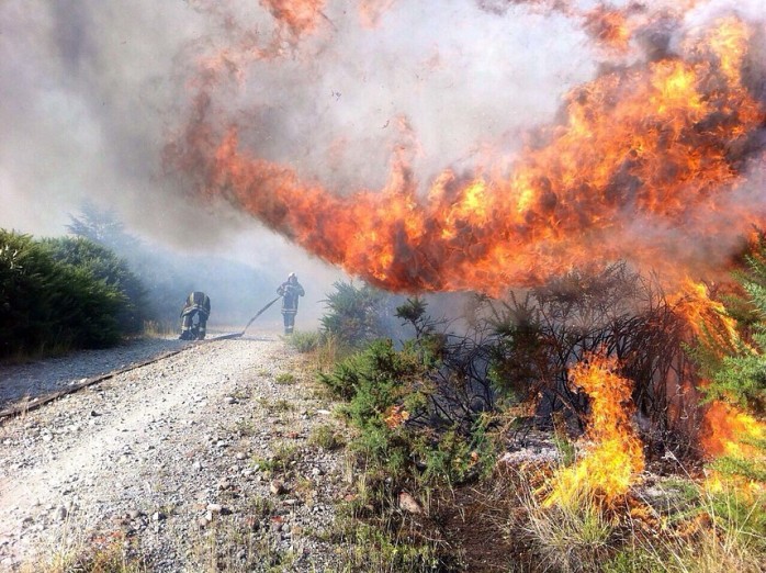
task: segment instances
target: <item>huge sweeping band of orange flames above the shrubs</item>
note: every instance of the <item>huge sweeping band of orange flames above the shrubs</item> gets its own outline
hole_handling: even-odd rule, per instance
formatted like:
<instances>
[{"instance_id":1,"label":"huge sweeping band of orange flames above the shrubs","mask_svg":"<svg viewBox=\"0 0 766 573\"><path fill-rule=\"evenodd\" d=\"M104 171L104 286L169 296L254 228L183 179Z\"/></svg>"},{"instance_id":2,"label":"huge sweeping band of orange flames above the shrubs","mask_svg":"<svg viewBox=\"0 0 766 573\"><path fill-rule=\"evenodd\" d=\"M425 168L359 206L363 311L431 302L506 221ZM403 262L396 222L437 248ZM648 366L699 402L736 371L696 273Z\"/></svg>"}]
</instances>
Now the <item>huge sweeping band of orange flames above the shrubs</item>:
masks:
<instances>
[{"instance_id":1,"label":"huge sweeping band of orange flames above the shrubs","mask_svg":"<svg viewBox=\"0 0 766 573\"><path fill-rule=\"evenodd\" d=\"M307 4L312 14L320 5ZM756 134L766 113L740 72L748 37L743 22L722 20L677 56L611 69L568 94L563 124L510 172L444 169L426 193L406 154L378 192L302 181L248 153L236 126L216 137L210 105L169 157L203 193L387 290L499 294L617 259L673 283L690 269L720 271L766 218L735 199L745 169L765 161Z\"/></svg>"}]
</instances>

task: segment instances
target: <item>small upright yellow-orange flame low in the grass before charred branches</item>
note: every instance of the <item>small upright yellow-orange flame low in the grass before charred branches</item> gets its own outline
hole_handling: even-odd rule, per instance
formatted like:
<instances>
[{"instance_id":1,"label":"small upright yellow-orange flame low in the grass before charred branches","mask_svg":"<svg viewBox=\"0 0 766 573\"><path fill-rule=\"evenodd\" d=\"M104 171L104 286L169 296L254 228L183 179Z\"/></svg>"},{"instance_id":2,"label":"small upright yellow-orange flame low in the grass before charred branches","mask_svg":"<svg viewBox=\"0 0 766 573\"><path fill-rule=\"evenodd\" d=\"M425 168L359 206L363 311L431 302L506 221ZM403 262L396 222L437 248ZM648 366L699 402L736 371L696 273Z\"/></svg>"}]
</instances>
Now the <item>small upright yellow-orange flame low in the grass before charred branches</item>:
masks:
<instances>
[{"instance_id":1,"label":"small upright yellow-orange flame low in the grass before charred branches","mask_svg":"<svg viewBox=\"0 0 766 573\"><path fill-rule=\"evenodd\" d=\"M574 384L590 397L589 446L575 465L556 473L547 504L576 501L584 492L613 499L626 494L643 471L643 448L630 422L632 384L616 369L616 360L600 357L572 369Z\"/></svg>"}]
</instances>

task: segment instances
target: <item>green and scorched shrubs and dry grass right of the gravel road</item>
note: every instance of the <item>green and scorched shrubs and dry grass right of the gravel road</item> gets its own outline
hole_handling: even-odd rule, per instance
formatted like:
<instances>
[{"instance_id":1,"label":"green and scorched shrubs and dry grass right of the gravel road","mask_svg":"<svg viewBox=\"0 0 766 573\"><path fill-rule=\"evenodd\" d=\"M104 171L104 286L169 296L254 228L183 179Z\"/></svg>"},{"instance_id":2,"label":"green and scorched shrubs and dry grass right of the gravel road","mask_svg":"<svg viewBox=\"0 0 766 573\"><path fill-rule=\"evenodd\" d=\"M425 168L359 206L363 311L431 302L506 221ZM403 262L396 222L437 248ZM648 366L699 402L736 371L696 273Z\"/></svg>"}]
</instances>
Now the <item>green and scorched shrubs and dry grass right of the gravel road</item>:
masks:
<instances>
[{"instance_id":1,"label":"green and scorched shrubs and dry grass right of the gravel road","mask_svg":"<svg viewBox=\"0 0 766 573\"><path fill-rule=\"evenodd\" d=\"M379 336L319 377L346 401L341 413L356 430L348 451L358 497L338 533L350 544L349 570L390 570L394 552L417 555L407 563L414 571L473 570L478 563L489 570L491 562L509 571L759 571L766 555L763 456L723 456L709 467L746 484L691 479L700 450L688 445L699 443L690 438L703 428L684 424L662 383L674 373L697 384L700 372L679 364L705 358L708 400L725 400L762 419L766 258L754 252L745 260L743 294L728 302L747 322L725 348L713 334L692 349L685 302L666 299L622 263L595 274L573 271L526 296L478 297L462 334L440 332L423 300L401 304L395 316L414 338ZM361 290L342 292L345 308L363 307L349 301L363 299ZM640 484L613 499L596 487L547 497L560 468L574 468L588 454L576 438L592 404L570 377L574 363L594 353L617 359L617 373L633 382L650 469L664 463L653 457L657 445L678 461L683 488L655 486L664 505L649 503ZM533 427L552 430L548 440L559 461L510 473L497 465L498 452ZM763 448L757 436L745 440L755 448L748 452ZM421 510L403 512L399 492L415 492ZM471 528L482 533L459 525L469 512ZM492 538L502 552L474 537ZM354 538L367 543L362 561Z\"/></svg>"}]
</instances>

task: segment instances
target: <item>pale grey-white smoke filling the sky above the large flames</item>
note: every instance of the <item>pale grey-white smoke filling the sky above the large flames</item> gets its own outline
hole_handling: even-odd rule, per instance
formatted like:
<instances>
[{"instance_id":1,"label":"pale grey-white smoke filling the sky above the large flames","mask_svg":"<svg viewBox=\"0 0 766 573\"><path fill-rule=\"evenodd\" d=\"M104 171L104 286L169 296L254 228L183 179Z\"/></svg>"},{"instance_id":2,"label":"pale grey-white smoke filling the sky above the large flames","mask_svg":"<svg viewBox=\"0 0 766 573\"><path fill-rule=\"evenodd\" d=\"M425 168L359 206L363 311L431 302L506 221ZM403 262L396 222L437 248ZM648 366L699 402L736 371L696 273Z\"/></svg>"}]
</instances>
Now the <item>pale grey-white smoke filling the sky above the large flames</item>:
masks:
<instances>
[{"instance_id":1,"label":"pale grey-white smoke filling the sky above the large flames","mask_svg":"<svg viewBox=\"0 0 766 573\"><path fill-rule=\"evenodd\" d=\"M763 15L758 0L696 4L618 2L643 44L612 49L596 2L7 0L0 225L56 234L90 199L151 240L326 288L339 271L193 192L230 125L251 156L340 195L384 188L395 160L421 184L508 167L605 61L673 50L733 7Z\"/></svg>"}]
</instances>

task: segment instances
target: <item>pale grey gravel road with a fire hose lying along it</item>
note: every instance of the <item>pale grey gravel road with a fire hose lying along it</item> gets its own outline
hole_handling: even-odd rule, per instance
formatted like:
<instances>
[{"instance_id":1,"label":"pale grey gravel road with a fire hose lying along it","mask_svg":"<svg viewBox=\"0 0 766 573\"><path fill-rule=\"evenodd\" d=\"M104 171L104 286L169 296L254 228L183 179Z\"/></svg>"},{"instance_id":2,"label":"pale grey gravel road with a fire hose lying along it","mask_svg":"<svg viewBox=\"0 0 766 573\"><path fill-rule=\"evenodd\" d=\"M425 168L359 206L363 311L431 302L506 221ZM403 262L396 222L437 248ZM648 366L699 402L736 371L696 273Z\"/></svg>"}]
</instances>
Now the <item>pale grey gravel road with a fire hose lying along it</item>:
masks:
<instances>
[{"instance_id":1,"label":"pale grey gravel road with a fire hose lying along it","mask_svg":"<svg viewBox=\"0 0 766 573\"><path fill-rule=\"evenodd\" d=\"M316 436L342 427L277 334L0 367L0 407L174 350L0 420L0 571L110 543L148 571L335 570L350 476Z\"/></svg>"}]
</instances>

